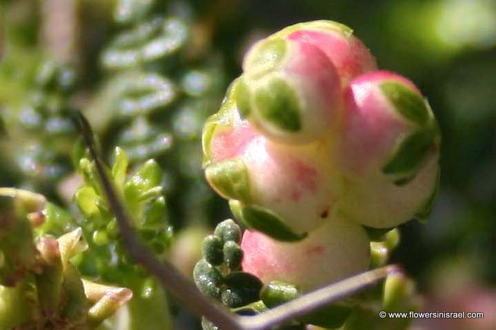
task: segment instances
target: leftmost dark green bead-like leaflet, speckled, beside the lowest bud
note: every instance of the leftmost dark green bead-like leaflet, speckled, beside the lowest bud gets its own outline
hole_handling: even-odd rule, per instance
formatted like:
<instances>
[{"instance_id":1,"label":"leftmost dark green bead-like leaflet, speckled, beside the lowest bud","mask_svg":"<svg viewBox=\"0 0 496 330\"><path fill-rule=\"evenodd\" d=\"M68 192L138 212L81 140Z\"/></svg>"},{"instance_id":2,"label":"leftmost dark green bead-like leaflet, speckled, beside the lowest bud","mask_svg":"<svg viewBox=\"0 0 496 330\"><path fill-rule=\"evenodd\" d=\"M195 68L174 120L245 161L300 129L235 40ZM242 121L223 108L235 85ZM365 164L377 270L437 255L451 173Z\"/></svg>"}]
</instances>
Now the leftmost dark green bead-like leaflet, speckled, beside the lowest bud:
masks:
<instances>
[{"instance_id":1,"label":"leftmost dark green bead-like leaflet, speckled, beside the lowest bud","mask_svg":"<svg viewBox=\"0 0 496 330\"><path fill-rule=\"evenodd\" d=\"M220 298L220 285L223 283L223 278L216 267L207 263L205 259L201 259L194 267L193 278L202 294L211 298Z\"/></svg>"}]
</instances>

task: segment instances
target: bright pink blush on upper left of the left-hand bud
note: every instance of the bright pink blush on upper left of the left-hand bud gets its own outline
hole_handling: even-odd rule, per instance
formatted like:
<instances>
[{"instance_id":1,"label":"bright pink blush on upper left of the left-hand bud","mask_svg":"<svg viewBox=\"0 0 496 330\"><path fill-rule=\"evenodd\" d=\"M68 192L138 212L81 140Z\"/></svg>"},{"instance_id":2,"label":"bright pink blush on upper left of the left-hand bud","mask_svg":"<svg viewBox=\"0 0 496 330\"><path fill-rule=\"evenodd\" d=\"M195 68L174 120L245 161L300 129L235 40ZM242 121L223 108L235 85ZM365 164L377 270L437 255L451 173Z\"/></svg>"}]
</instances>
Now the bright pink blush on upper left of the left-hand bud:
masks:
<instances>
[{"instance_id":1,"label":"bright pink blush on upper left of the left-hand bud","mask_svg":"<svg viewBox=\"0 0 496 330\"><path fill-rule=\"evenodd\" d=\"M214 162L222 162L242 154L249 142L258 135L260 133L247 122L230 127L225 132L214 133L210 146Z\"/></svg>"}]
</instances>

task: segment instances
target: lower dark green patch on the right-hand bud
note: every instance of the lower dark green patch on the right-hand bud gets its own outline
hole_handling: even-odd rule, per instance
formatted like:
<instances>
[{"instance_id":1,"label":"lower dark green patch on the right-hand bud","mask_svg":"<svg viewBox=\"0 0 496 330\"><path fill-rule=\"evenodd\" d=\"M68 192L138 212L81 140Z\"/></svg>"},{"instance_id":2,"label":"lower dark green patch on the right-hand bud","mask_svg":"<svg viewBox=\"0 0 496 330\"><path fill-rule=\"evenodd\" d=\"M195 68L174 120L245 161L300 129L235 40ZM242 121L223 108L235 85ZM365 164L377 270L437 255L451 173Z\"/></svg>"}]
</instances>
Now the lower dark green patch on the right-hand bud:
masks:
<instances>
[{"instance_id":1,"label":"lower dark green patch on the right-hand bud","mask_svg":"<svg viewBox=\"0 0 496 330\"><path fill-rule=\"evenodd\" d=\"M423 129L408 135L397 144L393 157L382 167L382 172L389 175L416 173L431 155L433 142L431 130Z\"/></svg>"}]
</instances>

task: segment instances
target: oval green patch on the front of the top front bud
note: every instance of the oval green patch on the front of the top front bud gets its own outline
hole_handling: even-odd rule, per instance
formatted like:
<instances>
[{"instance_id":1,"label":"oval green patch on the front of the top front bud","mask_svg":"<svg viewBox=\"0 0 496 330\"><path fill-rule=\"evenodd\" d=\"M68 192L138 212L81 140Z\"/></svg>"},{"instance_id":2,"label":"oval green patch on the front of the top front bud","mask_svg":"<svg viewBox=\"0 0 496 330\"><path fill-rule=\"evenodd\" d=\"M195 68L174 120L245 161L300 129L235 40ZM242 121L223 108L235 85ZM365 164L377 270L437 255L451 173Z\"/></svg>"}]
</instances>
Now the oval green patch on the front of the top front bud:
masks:
<instances>
[{"instance_id":1,"label":"oval green patch on the front of the top front bud","mask_svg":"<svg viewBox=\"0 0 496 330\"><path fill-rule=\"evenodd\" d=\"M273 78L255 92L260 117L278 129L298 132L302 128L300 105L295 91L282 79Z\"/></svg>"}]
</instances>

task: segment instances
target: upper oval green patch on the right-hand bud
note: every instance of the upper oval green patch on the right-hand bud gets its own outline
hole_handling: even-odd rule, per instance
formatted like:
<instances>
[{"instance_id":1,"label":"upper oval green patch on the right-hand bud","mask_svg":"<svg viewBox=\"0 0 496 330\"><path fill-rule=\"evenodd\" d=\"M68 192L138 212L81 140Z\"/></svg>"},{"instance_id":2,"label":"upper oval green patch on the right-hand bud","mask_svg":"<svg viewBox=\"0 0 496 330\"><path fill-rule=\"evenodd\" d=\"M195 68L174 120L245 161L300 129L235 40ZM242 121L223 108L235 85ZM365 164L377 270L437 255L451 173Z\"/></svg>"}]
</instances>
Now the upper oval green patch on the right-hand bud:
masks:
<instances>
[{"instance_id":1,"label":"upper oval green patch on the right-hand bud","mask_svg":"<svg viewBox=\"0 0 496 330\"><path fill-rule=\"evenodd\" d=\"M420 125L427 123L429 110L426 101L413 89L395 82L382 83L380 89L404 118Z\"/></svg>"}]
</instances>

